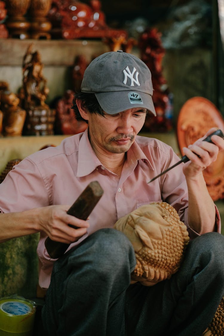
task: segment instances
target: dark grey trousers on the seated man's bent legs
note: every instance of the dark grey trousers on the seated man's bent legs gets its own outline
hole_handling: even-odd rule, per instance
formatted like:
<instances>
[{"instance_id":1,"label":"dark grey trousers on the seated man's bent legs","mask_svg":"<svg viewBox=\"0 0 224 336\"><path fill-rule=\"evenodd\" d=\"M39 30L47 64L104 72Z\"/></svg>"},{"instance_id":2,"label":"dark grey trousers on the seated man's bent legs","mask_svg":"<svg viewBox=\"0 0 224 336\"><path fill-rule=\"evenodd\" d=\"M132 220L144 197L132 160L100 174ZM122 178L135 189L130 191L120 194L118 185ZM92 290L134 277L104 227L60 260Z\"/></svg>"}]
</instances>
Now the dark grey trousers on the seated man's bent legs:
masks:
<instances>
[{"instance_id":1,"label":"dark grey trousers on the seated man's bent legs","mask_svg":"<svg viewBox=\"0 0 224 336\"><path fill-rule=\"evenodd\" d=\"M58 259L42 309L49 336L200 336L224 295L224 236L191 241L171 279L130 285L126 236L101 229Z\"/></svg>"}]
</instances>

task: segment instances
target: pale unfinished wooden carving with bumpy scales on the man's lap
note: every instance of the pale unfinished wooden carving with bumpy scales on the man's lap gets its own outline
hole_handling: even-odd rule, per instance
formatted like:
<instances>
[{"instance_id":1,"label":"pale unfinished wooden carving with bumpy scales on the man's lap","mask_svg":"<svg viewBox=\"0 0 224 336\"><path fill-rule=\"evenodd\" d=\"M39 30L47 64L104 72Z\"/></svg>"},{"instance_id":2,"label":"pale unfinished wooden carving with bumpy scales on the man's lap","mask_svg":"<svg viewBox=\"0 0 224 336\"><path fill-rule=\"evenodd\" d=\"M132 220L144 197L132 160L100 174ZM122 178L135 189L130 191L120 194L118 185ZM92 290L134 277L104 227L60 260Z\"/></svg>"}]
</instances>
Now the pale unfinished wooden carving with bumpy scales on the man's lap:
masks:
<instances>
[{"instance_id":1,"label":"pale unfinished wooden carving with bumpy scales on the man's lap","mask_svg":"<svg viewBox=\"0 0 224 336\"><path fill-rule=\"evenodd\" d=\"M135 250L137 264L131 274L132 283L152 286L178 270L189 237L170 204L143 205L120 218L115 228L129 238Z\"/></svg>"}]
</instances>

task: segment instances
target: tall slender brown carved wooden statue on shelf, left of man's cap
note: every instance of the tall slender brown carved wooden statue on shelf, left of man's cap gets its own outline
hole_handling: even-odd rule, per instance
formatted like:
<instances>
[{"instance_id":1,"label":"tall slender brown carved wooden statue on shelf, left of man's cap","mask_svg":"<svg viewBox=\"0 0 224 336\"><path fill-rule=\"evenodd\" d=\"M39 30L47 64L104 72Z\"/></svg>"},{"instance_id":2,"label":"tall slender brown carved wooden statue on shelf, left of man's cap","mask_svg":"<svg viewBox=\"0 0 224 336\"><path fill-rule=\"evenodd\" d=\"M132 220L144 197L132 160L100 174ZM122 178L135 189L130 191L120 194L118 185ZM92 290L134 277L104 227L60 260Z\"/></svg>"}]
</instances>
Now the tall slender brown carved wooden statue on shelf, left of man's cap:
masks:
<instances>
[{"instance_id":1,"label":"tall slender brown carved wooden statue on shelf, left of man's cap","mask_svg":"<svg viewBox=\"0 0 224 336\"><path fill-rule=\"evenodd\" d=\"M43 64L31 44L23 58L23 106L27 111L24 134L53 135L55 111L45 103L49 89L43 76Z\"/></svg>"}]
</instances>

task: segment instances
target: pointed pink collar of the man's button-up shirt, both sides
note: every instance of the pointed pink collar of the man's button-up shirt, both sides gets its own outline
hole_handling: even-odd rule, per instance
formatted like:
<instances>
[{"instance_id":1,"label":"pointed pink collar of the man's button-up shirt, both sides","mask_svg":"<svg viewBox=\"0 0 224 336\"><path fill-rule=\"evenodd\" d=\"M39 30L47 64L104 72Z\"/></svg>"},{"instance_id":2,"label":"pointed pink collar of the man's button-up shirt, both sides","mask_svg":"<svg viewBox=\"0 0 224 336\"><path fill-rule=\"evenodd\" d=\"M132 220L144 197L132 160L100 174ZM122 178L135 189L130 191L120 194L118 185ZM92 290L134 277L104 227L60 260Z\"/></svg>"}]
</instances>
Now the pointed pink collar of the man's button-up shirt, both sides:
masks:
<instances>
[{"instance_id":1,"label":"pointed pink collar of the man's button-up shirt, both sides","mask_svg":"<svg viewBox=\"0 0 224 336\"><path fill-rule=\"evenodd\" d=\"M127 152L127 163L130 164L131 162L132 165L135 165L136 167L138 160L144 161L149 168L154 170L153 166L141 150L138 143L134 141ZM101 165L101 162L95 155L90 144L87 127L79 142L77 177L87 176L92 173L98 166Z\"/></svg>"}]
</instances>

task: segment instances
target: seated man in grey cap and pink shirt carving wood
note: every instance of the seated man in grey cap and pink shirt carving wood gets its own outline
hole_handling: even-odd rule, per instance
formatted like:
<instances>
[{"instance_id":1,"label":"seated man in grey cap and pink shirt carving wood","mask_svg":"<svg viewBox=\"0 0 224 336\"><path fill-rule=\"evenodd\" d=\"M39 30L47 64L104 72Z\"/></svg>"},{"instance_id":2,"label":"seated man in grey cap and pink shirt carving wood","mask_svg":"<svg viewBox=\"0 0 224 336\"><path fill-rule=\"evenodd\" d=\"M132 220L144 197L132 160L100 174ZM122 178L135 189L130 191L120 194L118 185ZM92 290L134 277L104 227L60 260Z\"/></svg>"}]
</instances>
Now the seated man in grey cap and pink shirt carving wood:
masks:
<instances>
[{"instance_id":1,"label":"seated man in grey cap and pink shirt carving wood","mask_svg":"<svg viewBox=\"0 0 224 336\"><path fill-rule=\"evenodd\" d=\"M81 91L74 109L88 129L24 159L0 185L1 241L40 232L48 335L201 335L224 294L224 237L203 178L224 140L199 139L184 149L191 161L147 184L179 160L168 145L137 136L146 113L155 115L149 69L121 50L105 53L86 69ZM94 180L104 194L88 221L68 215ZM130 285L134 250L113 226L153 201L171 204L196 238L170 280ZM58 260L45 249L47 236L72 243Z\"/></svg>"}]
</instances>

